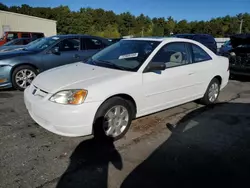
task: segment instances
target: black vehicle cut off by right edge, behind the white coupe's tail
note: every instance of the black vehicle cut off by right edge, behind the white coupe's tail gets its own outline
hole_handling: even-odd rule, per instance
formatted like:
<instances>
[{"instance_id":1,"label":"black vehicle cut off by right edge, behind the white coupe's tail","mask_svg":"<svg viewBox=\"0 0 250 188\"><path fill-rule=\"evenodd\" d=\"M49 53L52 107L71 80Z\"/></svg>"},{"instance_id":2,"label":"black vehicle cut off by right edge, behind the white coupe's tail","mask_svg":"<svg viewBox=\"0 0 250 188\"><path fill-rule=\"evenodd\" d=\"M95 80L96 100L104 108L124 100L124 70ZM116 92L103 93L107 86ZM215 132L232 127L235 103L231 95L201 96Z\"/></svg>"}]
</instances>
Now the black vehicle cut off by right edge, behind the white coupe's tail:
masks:
<instances>
[{"instance_id":1,"label":"black vehicle cut off by right edge, behind the white coupe's tail","mask_svg":"<svg viewBox=\"0 0 250 188\"><path fill-rule=\"evenodd\" d=\"M229 50L230 73L250 76L250 34L230 37L232 49Z\"/></svg>"}]
</instances>

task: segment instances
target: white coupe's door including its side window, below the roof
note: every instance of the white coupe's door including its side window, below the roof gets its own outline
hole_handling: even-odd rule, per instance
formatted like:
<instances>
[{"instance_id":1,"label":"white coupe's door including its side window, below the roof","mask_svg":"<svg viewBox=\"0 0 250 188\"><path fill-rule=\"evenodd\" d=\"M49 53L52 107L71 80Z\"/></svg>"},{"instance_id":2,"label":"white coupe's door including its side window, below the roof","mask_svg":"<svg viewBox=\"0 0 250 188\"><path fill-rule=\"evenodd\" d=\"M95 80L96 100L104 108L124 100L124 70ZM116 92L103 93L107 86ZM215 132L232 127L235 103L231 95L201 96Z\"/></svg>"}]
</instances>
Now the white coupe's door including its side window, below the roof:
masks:
<instances>
[{"instance_id":1,"label":"white coupe's door including its side window, below the roof","mask_svg":"<svg viewBox=\"0 0 250 188\"><path fill-rule=\"evenodd\" d=\"M151 62L164 62L164 71L143 73L145 108L141 112L152 113L189 101L193 95L192 69L188 67L191 56L184 42L163 46Z\"/></svg>"}]
</instances>

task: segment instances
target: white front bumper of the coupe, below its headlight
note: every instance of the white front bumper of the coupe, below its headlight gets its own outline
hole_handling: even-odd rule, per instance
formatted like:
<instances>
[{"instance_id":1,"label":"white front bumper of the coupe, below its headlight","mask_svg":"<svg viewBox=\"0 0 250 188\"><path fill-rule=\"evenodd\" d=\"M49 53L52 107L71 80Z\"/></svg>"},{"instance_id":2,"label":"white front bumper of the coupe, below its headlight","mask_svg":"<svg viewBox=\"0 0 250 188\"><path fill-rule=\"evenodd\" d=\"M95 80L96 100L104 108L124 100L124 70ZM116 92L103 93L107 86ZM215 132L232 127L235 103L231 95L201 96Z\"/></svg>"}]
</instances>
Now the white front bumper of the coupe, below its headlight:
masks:
<instances>
[{"instance_id":1,"label":"white front bumper of the coupe, below its headlight","mask_svg":"<svg viewBox=\"0 0 250 188\"><path fill-rule=\"evenodd\" d=\"M32 94L34 86L24 91L25 106L32 119L40 126L62 136L77 137L92 134L93 120L101 102L82 105L62 105Z\"/></svg>"}]
</instances>

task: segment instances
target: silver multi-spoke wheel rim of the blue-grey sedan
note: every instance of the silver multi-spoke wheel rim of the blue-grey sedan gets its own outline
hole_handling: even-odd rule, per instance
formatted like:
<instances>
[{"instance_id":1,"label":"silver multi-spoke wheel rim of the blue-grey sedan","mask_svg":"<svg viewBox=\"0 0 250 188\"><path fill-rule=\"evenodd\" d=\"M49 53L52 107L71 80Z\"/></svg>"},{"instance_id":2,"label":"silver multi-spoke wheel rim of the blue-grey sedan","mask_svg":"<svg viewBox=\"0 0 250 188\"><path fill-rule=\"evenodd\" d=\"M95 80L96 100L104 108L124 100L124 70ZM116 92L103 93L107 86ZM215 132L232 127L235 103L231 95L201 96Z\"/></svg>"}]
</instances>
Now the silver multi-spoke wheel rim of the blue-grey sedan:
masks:
<instances>
[{"instance_id":1,"label":"silver multi-spoke wheel rim of the blue-grey sedan","mask_svg":"<svg viewBox=\"0 0 250 188\"><path fill-rule=\"evenodd\" d=\"M36 74L33 71L29 69L22 69L16 73L15 81L19 87L25 89L31 84L35 77Z\"/></svg>"}]
</instances>

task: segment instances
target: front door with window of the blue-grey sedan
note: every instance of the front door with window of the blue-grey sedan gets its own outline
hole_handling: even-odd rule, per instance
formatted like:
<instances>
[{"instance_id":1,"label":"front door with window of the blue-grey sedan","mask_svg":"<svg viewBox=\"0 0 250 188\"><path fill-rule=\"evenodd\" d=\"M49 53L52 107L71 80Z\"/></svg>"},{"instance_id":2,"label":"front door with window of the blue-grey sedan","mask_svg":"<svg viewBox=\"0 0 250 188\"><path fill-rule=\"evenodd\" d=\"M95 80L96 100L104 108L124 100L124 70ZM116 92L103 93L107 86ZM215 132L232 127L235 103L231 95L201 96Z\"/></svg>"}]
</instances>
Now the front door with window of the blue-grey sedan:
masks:
<instances>
[{"instance_id":1,"label":"front door with window of the blue-grey sedan","mask_svg":"<svg viewBox=\"0 0 250 188\"><path fill-rule=\"evenodd\" d=\"M80 61L79 37L66 38L43 55L44 70Z\"/></svg>"}]
</instances>

